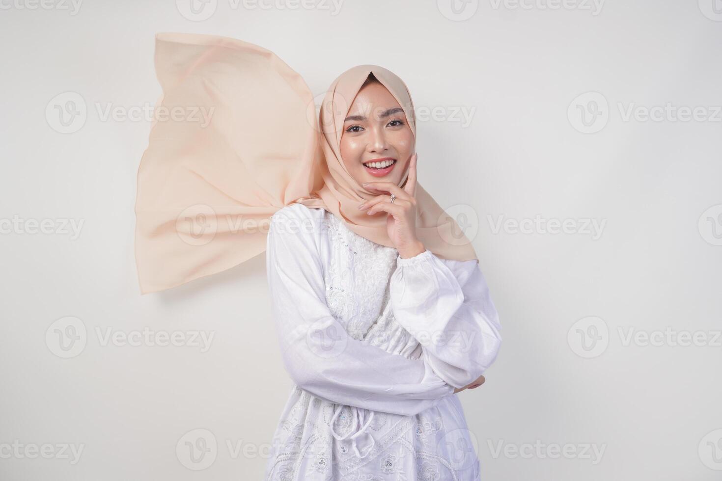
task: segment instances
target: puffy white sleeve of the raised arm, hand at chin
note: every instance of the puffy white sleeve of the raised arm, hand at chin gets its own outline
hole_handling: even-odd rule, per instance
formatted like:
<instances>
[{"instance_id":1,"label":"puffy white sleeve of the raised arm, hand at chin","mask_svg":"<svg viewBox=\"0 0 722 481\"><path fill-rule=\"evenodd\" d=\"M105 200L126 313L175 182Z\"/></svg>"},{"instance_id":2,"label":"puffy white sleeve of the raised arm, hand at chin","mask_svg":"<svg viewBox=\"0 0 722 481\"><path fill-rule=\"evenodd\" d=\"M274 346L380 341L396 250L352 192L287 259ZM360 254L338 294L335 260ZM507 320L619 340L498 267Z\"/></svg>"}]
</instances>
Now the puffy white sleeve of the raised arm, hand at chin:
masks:
<instances>
[{"instance_id":1,"label":"puffy white sleeve of the raised arm, hand at chin","mask_svg":"<svg viewBox=\"0 0 722 481\"><path fill-rule=\"evenodd\" d=\"M478 262L441 260L430 250L397 257L389 289L396 321L448 384L464 387L495 361L501 325Z\"/></svg>"}]
</instances>

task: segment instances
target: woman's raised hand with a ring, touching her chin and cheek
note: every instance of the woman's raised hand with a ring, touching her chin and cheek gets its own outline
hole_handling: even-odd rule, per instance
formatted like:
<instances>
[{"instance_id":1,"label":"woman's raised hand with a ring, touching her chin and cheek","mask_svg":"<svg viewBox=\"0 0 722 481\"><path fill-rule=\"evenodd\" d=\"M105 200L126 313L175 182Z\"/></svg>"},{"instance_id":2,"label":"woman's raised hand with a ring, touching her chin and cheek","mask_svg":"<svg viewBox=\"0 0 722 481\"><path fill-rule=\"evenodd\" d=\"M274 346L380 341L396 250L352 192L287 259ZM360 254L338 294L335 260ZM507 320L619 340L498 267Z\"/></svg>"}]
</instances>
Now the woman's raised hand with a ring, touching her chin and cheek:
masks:
<instances>
[{"instance_id":1,"label":"woman's raised hand with a ring, touching her chin and cheek","mask_svg":"<svg viewBox=\"0 0 722 481\"><path fill-rule=\"evenodd\" d=\"M416 161L417 154L411 156L409 161L409 177L406 185L401 189L393 182L367 182L363 186L368 190L379 190L388 194L378 195L362 203L359 208L368 208L366 212L373 216L377 212L386 212L386 229L388 237L393 242L399 255L406 259L425 252L426 247L416 237ZM396 198L391 203L391 194Z\"/></svg>"}]
</instances>

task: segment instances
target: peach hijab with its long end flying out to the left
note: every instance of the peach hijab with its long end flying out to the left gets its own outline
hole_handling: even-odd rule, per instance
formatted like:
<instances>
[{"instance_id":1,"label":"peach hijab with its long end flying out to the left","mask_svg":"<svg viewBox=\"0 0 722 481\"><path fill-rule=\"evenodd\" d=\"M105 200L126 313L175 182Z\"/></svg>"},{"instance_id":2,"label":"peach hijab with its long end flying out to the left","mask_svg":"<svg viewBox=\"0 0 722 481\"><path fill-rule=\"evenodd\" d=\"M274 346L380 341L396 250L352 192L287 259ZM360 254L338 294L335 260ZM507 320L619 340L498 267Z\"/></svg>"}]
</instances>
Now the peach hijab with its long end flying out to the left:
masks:
<instances>
[{"instance_id":1,"label":"peach hijab with its long end flying out to the left","mask_svg":"<svg viewBox=\"0 0 722 481\"><path fill-rule=\"evenodd\" d=\"M299 74L269 50L230 37L159 33L162 87L138 169L135 254L142 294L219 273L266 249L269 219L284 206L321 207L366 239L393 247L386 216L357 206L378 195L349 175L340 154L344 118L369 74L404 109L404 81L380 66L341 74L321 111ZM406 159L408 160L408 159ZM404 173L400 186L408 177ZM477 260L458 224L417 182L417 237L443 259Z\"/></svg>"}]
</instances>

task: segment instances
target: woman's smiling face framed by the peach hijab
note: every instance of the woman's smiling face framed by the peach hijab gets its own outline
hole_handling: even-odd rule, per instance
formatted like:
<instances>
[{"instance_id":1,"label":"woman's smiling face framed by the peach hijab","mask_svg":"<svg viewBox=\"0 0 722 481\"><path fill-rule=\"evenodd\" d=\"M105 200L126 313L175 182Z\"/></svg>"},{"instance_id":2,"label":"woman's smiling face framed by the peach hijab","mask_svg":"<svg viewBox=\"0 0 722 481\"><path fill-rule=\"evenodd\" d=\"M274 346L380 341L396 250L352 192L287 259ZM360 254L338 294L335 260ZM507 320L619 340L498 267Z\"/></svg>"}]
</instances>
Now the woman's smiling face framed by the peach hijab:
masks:
<instances>
[{"instance_id":1,"label":"woman's smiling face framed by the peach hijab","mask_svg":"<svg viewBox=\"0 0 722 481\"><path fill-rule=\"evenodd\" d=\"M366 84L344 122L341 156L346 169L359 184L383 180L399 185L412 154L414 133L404 109L382 84Z\"/></svg>"}]
</instances>

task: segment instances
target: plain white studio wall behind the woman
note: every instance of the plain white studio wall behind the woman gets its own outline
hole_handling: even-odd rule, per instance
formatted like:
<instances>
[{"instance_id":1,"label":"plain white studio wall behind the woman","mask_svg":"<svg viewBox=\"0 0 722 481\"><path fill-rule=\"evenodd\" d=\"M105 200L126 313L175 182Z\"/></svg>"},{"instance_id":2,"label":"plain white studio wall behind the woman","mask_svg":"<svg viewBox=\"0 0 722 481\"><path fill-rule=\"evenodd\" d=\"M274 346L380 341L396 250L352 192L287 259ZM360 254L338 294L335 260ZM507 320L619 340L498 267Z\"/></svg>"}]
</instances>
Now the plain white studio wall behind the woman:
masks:
<instances>
[{"instance_id":1,"label":"plain white studio wall behind the woman","mask_svg":"<svg viewBox=\"0 0 722 481\"><path fill-rule=\"evenodd\" d=\"M438 107L419 120L419 182L476 216L469 235L503 326L487 383L460 394L483 479L720 479L719 0L485 0L459 14L445 0L346 0L337 12L217 0L207 19L186 18L189 1L0 0L0 479L263 475L291 387L265 256L139 294L134 201L150 122L102 114L157 100L156 32L256 43L314 94L375 63L404 79L419 115ZM87 112L61 133L68 95ZM681 120L695 107L697 120ZM552 234L536 216L572 220ZM43 219L46 233L28 232ZM77 235L65 221L82 221ZM58 345L66 317L87 337L75 353ZM104 343L144 327L214 337L206 352ZM679 345L685 332L705 341ZM200 471L176 454L196 429L217 441ZM32 457L43 444L49 459ZM63 444L82 446L79 459Z\"/></svg>"}]
</instances>

